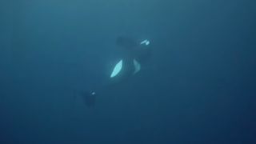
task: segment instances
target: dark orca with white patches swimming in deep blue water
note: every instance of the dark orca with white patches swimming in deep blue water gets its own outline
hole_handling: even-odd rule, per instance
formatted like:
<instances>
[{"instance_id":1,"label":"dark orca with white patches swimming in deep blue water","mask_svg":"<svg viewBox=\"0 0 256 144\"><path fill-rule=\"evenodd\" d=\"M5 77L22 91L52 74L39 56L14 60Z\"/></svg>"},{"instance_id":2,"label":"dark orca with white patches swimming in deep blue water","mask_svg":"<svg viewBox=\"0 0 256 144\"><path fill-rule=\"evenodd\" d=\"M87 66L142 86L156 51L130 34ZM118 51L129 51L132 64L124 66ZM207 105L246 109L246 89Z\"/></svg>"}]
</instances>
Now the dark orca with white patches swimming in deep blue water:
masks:
<instances>
[{"instance_id":1,"label":"dark orca with white patches swimming in deep blue water","mask_svg":"<svg viewBox=\"0 0 256 144\"><path fill-rule=\"evenodd\" d=\"M143 39L142 41L135 41L133 38L126 36L119 36L116 39L118 47L125 50L125 54L113 67L109 78L107 78L106 86L102 86L98 90L82 91L83 102L87 107L94 107L98 93L104 94L104 91L115 89L126 80L138 74L143 65L150 59L150 40Z\"/></svg>"}]
</instances>

